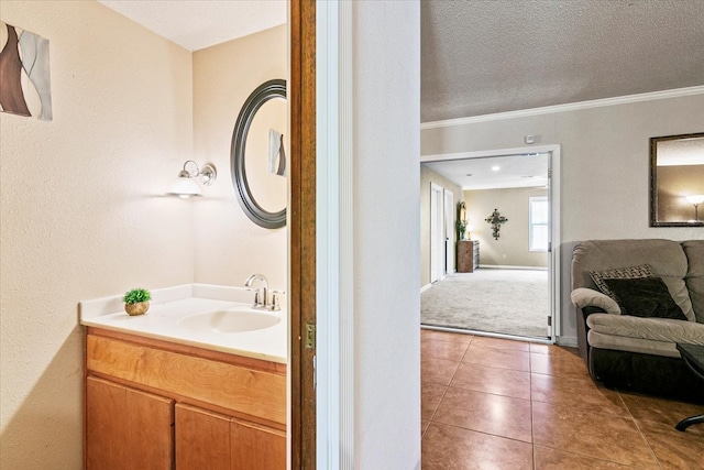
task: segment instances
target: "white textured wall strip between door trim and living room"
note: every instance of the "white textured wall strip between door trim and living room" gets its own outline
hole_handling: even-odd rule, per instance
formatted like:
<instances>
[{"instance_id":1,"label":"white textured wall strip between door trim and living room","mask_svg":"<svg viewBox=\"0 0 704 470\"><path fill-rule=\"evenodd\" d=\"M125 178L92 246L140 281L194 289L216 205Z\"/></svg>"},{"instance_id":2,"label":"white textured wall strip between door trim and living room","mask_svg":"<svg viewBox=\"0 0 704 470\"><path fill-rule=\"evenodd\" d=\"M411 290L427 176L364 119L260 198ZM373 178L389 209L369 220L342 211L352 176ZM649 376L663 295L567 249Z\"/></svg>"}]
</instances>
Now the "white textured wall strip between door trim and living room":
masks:
<instances>
[{"instance_id":1,"label":"white textured wall strip between door trim and living room","mask_svg":"<svg viewBox=\"0 0 704 470\"><path fill-rule=\"evenodd\" d=\"M420 468L417 1L354 2L354 467Z\"/></svg>"}]
</instances>

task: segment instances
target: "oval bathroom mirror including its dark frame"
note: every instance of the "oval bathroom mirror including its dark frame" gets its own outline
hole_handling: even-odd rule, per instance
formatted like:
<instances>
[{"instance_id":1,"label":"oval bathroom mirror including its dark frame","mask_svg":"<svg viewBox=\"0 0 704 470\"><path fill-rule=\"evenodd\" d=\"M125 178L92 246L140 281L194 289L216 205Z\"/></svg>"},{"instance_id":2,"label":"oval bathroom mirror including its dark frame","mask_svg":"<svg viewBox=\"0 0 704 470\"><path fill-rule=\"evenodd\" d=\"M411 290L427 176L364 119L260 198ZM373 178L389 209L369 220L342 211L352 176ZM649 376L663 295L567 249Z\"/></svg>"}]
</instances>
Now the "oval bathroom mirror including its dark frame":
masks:
<instances>
[{"instance_id":1,"label":"oval bathroom mirror including its dark frame","mask_svg":"<svg viewBox=\"0 0 704 470\"><path fill-rule=\"evenodd\" d=\"M257 226L286 225L288 190L286 80L260 85L244 101L232 133L232 184L244 214Z\"/></svg>"}]
</instances>

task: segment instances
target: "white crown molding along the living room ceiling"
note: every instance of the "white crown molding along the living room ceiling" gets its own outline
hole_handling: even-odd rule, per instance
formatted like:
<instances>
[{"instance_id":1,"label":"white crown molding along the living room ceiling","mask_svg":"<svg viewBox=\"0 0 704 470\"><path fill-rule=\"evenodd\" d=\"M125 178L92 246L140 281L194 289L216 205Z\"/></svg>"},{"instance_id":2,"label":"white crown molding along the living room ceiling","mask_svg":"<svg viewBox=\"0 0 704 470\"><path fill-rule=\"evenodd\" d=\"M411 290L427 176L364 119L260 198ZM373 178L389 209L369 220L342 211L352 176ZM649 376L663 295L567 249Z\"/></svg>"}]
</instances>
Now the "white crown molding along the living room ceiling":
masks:
<instances>
[{"instance_id":1,"label":"white crown molding along the living room ceiling","mask_svg":"<svg viewBox=\"0 0 704 470\"><path fill-rule=\"evenodd\" d=\"M550 114L554 112L575 111L580 109L602 108L605 106L627 105L631 102L652 101L666 98L703 95L704 86L675 88L671 90L652 91L639 95L627 95L614 98L579 101L566 105L546 106L542 108L520 109L518 111L496 112L494 114L472 116L469 118L447 119L444 121L421 122L420 130L451 128L453 125L474 124L477 122L499 121L502 119L526 118L530 116Z\"/></svg>"}]
</instances>

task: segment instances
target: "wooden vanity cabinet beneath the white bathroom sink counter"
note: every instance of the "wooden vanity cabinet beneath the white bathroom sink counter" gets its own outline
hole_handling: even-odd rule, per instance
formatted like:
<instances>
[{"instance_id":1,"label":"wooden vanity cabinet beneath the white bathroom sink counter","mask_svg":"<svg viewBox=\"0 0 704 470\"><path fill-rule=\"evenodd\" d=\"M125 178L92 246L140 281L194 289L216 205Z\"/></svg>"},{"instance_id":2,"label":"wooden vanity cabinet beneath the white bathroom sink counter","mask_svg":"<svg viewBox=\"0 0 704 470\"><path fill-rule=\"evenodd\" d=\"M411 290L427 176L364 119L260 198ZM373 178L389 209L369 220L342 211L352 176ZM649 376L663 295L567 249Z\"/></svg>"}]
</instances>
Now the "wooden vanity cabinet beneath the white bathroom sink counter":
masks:
<instances>
[{"instance_id":1,"label":"wooden vanity cabinet beneath the white bathroom sink counter","mask_svg":"<svg viewBox=\"0 0 704 470\"><path fill-rule=\"evenodd\" d=\"M108 330L86 337L86 468L286 468L284 364Z\"/></svg>"}]
</instances>

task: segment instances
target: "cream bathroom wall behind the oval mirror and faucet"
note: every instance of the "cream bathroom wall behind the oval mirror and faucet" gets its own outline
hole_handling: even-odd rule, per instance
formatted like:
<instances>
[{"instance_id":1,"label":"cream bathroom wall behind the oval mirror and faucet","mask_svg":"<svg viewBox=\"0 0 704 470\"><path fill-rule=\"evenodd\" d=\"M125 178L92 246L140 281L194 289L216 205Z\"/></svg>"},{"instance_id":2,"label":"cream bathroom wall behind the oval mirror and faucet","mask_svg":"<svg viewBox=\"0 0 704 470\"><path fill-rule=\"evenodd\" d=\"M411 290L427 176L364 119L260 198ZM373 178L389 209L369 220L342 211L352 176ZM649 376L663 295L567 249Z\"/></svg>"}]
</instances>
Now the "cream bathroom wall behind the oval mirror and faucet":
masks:
<instances>
[{"instance_id":1,"label":"cream bathroom wall behind the oval mirror and faucet","mask_svg":"<svg viewBox=\"0 0 704 470\"><path fill-rule=\"evenodd\" d=\"M194 53L194 159L218 168L208 197L194 206L196 282L243 285L257 272L271 287L286 289L288 230L263 229L244 215L232 186L230 144L250 94L287 78L287 44L282 25Z\"/></svg>"}]
</instances>

